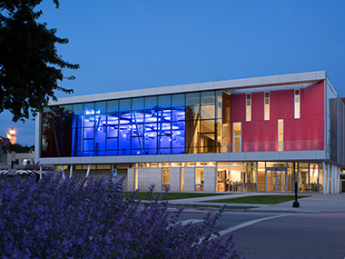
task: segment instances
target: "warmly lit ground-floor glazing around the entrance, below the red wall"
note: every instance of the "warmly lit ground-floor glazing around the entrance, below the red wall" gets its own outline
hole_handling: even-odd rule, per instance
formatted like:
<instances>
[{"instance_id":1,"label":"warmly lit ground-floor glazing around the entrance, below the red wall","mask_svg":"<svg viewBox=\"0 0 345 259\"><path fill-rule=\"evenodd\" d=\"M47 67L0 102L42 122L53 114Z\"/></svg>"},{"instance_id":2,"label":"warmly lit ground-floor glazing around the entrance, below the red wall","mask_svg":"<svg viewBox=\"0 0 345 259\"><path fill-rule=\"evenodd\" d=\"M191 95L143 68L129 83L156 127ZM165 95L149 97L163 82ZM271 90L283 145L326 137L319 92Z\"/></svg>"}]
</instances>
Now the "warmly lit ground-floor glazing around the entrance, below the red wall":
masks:
<instances>
[{"instance_id":1,"label":"warmly lit ground-floor glazing around the entrance, below the red wall","mask_svg":"<svg viewBox=\"0 0 345 259\"><path fill-rule=\"evenodd\" d=\"M216 192L323 192L322 164L292 162L218 162Z\"/></svg>"}]
</instances>

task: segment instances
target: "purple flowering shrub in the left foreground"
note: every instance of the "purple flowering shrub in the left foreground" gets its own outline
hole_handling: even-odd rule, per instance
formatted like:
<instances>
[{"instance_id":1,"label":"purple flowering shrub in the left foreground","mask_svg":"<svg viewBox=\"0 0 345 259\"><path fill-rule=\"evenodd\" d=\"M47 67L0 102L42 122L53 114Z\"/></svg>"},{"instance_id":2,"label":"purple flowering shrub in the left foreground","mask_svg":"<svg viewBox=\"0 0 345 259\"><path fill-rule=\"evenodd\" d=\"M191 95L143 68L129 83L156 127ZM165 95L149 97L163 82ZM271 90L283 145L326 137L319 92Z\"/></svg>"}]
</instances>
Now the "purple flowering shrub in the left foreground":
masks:
<instances>
[{"instance_id":1,"label":"purple flowering shrub in the left foreground","mask_svg":"<svg viewBox=\"0 0 345 259\"><path fill-rule=\"evenodd\" d=\"M0 179L2 258L237 258L232 236L217 237L215 215L178 223L164 193L125 198L123 179L69 180L53 174ZM202 238L205 237L205 238ZM201 241L200 241L201 240Z\"/></svg>"}]
</instances>

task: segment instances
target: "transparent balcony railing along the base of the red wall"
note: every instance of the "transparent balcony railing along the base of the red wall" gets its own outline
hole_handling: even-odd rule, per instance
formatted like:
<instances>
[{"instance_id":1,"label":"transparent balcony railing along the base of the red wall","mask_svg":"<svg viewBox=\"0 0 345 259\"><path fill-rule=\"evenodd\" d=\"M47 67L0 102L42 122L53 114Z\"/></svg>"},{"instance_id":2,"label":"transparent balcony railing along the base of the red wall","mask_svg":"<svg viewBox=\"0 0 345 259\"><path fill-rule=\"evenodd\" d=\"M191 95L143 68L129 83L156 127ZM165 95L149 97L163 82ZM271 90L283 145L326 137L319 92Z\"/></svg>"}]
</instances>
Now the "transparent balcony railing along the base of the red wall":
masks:
<instances>
[{"instance_id":1,"label":"transparent balcony railing along the base of the red wall","mask_svg":"<svg viewBox=\"0 0 345 259\"><path fill-rule=\"evenodd\" d=\"M272 141L228 143L222 146L222 152L277 152L323 150L322 140Z\"/></svg>"}]
</instances>

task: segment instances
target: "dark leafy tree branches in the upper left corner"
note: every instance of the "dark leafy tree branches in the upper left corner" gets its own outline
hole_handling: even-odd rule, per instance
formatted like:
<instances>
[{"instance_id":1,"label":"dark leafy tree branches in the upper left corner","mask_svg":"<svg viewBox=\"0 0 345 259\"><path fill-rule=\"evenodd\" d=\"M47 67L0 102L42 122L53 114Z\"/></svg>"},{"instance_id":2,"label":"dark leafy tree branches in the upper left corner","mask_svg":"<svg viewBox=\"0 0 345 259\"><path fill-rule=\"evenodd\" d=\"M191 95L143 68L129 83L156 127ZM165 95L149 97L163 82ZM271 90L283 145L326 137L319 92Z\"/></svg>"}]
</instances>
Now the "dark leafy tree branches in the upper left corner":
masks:
<instances>
[{"instance_id":1,"label":"dark leafy tree branches in the upper left corner","mask_svg":"<svg viewBox=\"0 0 345 259\"><path fill-rule=\"evenodd\" d=\"M15 122L56 100L55 91L73 93L58 82L74 80L64 76L64 69L79 68L57 54L55 45L68 39L37 22L43 12L34 9L42 1L0 0L0 113L9 110ZM59 7L58 0L54 4Z\"/></svg>"}]
</instances>

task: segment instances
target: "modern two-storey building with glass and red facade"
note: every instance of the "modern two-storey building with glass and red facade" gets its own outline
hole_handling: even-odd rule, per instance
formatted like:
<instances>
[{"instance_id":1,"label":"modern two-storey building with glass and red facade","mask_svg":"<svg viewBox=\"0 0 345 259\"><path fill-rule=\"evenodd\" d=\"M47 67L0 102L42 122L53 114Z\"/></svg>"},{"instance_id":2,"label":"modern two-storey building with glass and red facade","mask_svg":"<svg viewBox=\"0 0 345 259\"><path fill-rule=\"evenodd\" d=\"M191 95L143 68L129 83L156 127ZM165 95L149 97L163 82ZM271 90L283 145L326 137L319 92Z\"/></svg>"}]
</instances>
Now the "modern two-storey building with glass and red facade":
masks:
<instances>
[{"instance_id":1,"label":"modern two-storey building with glass and red facade","mask_svg":"<svg viewBox=\"0 0 345 259\"><path fill-rule=\"evenodd\" d=\"M61 98L35 154L126 189L340 193L345 105L324 71Z\"/></svg>"}]
</instances>

